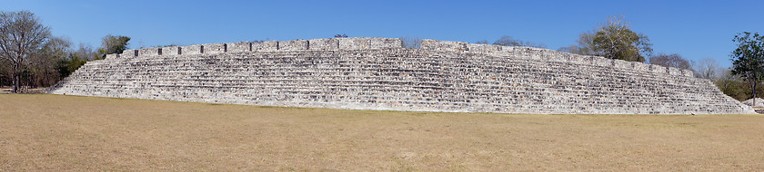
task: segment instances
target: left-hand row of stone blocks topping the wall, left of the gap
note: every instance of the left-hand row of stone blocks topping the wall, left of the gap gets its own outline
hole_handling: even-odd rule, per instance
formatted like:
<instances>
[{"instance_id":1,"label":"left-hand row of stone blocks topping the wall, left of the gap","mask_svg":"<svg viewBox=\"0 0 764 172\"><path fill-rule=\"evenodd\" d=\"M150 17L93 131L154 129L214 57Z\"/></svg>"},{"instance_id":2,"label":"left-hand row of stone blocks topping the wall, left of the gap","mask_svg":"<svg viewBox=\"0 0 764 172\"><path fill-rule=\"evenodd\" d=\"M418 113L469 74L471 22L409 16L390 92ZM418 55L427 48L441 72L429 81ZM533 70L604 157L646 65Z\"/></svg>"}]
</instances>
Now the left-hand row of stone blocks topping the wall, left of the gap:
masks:
<instances>
[{"instance_id":1,"label":"left-hand row of stone blocks topping the wall, left of the gap","mask_svg":"<svg viewBox=\"0 0 764 172\"><path fill-rule=\"evenodd\" d=\"M397 38L355 37L327 38L312 40L206 43L187 46L149 47L126 50L120 54L107 54L106 59L133 58L144 56L167 56L206 53L243 53L254 51L335 51L402 48Z\"/></svg>"}]
</instances>

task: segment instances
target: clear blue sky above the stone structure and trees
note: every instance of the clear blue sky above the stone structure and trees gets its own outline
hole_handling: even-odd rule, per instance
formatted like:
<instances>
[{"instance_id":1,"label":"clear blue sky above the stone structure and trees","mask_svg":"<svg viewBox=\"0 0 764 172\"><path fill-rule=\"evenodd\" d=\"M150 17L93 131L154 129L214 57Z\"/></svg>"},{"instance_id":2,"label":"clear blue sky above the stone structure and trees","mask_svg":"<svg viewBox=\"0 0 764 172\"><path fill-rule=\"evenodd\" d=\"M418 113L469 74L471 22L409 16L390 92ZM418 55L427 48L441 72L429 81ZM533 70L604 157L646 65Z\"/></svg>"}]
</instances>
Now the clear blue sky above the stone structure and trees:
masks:
<instances>
[{"instance_id":1,"label":"clear blue sky above the stone structure and trees","mask_svg":"<svg viewBox=\"0 0 764 172\"><path fill-rule=\"evenodd\" d=\"M764 33L764 1L36 1L0 0L28 10L57 36L100 45L106 34L130 47L332 37L400 37L475 43L503 35L547 44L575 43L610 15L645 33L656 53L729 66L731 41Z\"/></svg>"}]
</instances>

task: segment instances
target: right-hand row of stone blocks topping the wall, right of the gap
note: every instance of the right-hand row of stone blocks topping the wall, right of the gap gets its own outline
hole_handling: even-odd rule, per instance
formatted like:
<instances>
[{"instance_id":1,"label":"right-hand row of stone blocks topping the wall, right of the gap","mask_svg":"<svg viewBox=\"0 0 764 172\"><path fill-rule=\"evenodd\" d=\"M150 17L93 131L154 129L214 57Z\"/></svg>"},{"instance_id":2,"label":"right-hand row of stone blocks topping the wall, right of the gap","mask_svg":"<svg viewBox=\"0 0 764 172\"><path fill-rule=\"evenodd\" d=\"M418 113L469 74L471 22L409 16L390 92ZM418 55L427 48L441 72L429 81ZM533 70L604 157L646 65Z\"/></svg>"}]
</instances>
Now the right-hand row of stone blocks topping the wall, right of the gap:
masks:
<instances>
[{"instance_id":1,"label":"right-hand row of stone blocks topping the wall, right of the gap","mask_svg":"<svg viewBox=\"0 0 764 172\"><path fill-rule=\"evenodd\" d=\"M609 66L617 69L635 70L641 72L653 72L658 74L693 77L694 73L690 70L681 70L678 68L647 64L644 62L628 62L622 60L613 60L599 56L580 55L575 53L558 52L549 49L523 47L523 46L502 46L492 44L473 44L464 42L422 40L420 45L422 49L459 53L479 53L490 56L526 58L529 60L540 60L548 62L573 62L578 64L590 64L597 66Z\"/></svg>"}]
</instances>

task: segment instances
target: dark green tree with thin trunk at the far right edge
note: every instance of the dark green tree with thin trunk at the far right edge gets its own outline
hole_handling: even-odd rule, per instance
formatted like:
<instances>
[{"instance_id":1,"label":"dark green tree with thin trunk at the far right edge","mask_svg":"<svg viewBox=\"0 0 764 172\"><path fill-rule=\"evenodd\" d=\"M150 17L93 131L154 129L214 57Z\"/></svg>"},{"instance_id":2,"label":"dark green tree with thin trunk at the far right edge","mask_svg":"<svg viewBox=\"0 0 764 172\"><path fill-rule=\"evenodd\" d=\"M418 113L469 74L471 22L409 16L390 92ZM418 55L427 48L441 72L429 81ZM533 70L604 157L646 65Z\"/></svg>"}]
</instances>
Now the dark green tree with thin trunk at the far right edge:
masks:
<instances>
[{"instance_id":1,"label":"dark green tree with thin trunk at the far right edge","mask_svg":"<svg viewBox=\"0 0 764 172\"><path fill-rule=\"evenodd\" d=\"M738 43L738 48L730 55L732 74L748 81L753 98L756 98L757 85L764 76L764 35L743 32L735 35L732 41Z\"/></svg>"}]
</instances>

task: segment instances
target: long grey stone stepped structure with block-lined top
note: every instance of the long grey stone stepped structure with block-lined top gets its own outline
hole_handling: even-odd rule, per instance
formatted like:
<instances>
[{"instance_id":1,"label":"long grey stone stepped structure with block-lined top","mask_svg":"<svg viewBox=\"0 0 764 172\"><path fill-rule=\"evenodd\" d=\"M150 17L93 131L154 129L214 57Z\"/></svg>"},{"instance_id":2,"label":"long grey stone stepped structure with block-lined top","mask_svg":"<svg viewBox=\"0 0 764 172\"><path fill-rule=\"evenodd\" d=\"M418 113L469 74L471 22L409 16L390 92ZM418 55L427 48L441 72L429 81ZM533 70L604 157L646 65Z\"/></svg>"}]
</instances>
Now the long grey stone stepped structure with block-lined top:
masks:
<instances>
[{"instance_id":1,"label":"long grey stone stepped structure with block-lined top","mask_svg":"<svg viewBox=\"0 0 764 172\"><path fill-rule=\"evenodd\" d=\"M530 47L331 38L143 48L87 62L54 94L353 110L741 114L688 70Z\"/></svg>"}]
</instances>

